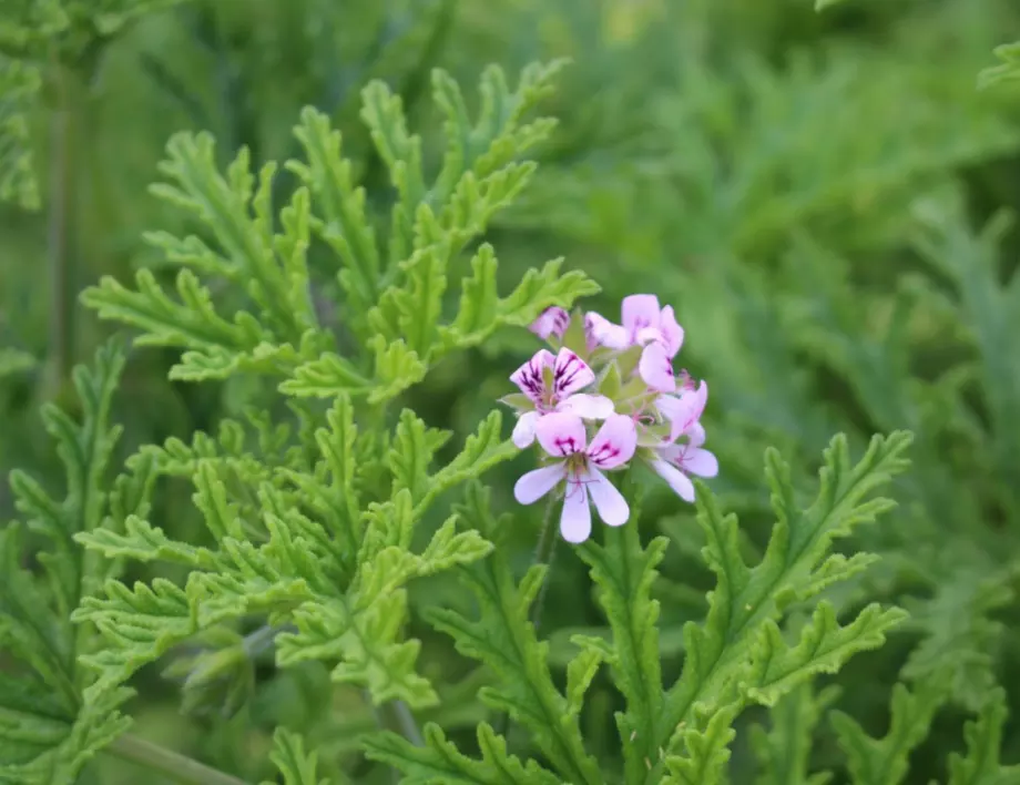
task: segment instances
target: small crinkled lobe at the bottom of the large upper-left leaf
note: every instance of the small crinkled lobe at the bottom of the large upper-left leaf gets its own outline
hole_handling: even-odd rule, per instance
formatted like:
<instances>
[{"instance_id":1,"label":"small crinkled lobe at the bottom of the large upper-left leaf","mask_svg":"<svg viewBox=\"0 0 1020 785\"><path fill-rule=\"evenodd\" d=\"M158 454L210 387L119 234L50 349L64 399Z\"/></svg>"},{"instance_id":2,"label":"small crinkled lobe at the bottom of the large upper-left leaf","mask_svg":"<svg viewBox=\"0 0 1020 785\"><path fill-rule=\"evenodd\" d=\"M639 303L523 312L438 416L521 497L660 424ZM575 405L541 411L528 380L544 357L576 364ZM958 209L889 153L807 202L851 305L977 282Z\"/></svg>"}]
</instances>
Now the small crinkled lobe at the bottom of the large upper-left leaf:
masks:
<instances>
[{"instance_id":1,"label":"small crinkled lobe at the bottom of the large upper-left leaf","mask_svg":"<svg viewBox=\"0 0 1020 785\"><path fill-rule=\"evenodd\" d=\"M426 366L404 340L387 343L376 336L368 344L375 356L375 373L367 377L354 364L327 351L297 366L279 391L297 398L334 398L338 395L365 396L368 402L384 404L425 378Z\"/></svg>"}]
</instances>

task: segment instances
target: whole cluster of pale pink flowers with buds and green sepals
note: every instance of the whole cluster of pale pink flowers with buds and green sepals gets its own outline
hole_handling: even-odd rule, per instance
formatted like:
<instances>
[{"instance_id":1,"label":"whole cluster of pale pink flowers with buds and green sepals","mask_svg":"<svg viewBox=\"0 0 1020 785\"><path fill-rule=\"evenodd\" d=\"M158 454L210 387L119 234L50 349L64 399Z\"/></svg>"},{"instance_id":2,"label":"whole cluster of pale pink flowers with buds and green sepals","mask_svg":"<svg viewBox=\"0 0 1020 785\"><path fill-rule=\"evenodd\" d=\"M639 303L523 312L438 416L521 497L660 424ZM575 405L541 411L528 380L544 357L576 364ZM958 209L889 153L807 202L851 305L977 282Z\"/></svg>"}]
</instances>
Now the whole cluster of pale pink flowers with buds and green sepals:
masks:
<instances>
[{"instance_id":1,"label":"whole cluster of pale pink flowers with buds and green sepals","mask_svg":"<svg viewBox=\"0 0 1020 785\"><path fill-rule=\"evenodd\" d=\"M510 377L520 392L502 399L518 414L513 444L524 449L538 441L543 453L543 466L517 481L514 497L531 504L562 487L560 532L569 542L591 534L590 502L606 524L626 522L626 500L603 472L634 457L685 501L694 501L688 475L718 472L703 448L708 387L673 370L684 340L673 308L661 308L655 295L632 295L622 322L548 308L531 332L555 354L537 351Z\"/></svg>"}]
</instances>

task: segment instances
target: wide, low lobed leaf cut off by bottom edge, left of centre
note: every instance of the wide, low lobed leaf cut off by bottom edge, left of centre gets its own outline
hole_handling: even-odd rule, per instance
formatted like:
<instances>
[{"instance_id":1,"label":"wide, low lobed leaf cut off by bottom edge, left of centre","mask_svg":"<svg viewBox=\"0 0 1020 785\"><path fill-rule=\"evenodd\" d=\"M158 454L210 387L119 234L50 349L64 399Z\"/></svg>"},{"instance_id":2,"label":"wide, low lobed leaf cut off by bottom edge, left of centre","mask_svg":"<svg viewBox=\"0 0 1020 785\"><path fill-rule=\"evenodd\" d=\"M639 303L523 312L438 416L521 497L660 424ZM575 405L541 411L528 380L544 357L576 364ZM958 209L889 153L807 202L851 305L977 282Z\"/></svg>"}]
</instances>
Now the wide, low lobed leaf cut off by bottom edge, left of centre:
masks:
<instances>
[{"instance_id":1,"label":"wide, low lobed leaf cut off by bottom edge, left of centre","mask_svg":"<svg viewBox=\"0 0 1020 785\"><path fill-rule=\"evenodd\" d=\"M404 785L562 785L533 761L522 764L508 754L507 741L486 723L478 726L480 761L462 755L435 723L424 732L424 747L391 732L367 736L361 746L368 757L399 769Z\"/></svg>"}]
</instances>

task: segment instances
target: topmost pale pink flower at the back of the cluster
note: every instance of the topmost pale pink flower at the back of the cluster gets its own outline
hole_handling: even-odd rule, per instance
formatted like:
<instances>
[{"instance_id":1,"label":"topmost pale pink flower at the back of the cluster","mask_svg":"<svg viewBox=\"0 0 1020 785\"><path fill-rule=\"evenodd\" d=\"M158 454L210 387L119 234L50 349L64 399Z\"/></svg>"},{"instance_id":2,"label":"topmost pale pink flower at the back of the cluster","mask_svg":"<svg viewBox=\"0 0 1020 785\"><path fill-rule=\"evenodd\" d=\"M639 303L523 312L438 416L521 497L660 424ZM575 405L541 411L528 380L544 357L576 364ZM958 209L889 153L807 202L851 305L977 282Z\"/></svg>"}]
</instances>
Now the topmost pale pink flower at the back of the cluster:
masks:
<instances>
[{"instance_id":1,"label":"topmost pale pink flower at the back of the cluster","mask_svg":"<svg viewBox=\"0 0 1020 785\"><path fill-rule=\"evenodd\" d=\"M645 384L660 392L676 389L673 358L684 341L684 330L676 323L673 307L660 309L655 295L631 295L623 298L623 325L590 312L584 320L589 338L610 349L643 346L638 373Z\"/></svg>"}]
</instances>

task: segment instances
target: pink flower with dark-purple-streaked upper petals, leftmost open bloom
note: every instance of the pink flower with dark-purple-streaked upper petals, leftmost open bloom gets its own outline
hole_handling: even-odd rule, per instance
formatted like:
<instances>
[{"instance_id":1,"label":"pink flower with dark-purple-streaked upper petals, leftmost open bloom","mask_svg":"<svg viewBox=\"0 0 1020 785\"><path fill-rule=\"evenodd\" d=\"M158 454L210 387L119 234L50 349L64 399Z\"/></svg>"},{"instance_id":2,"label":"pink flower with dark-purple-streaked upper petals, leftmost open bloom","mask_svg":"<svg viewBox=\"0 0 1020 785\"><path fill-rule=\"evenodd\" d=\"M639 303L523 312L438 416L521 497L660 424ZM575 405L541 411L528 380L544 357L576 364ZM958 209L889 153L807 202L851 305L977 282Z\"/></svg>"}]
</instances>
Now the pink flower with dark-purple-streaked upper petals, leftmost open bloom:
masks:
<instances>
[{"instance_id":1,"label":"pink flower with dark-purple-streaked upper petals, leftmost open bloom","mask_svg":"<svg viewBox=\"0 0 1020 785\"><path fill-rule=\"evenodd\" d=\"M526 410L513 428L513 444L524 449L534 441L536 426L543 415L570 412L590 420L603 420L613 414L613 401L602 395L578 390L595 380L595 373L570 349L553 356L539 349L510 376L533 408Z\"/></svg>"}]
</instances>

